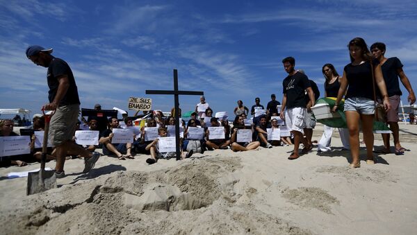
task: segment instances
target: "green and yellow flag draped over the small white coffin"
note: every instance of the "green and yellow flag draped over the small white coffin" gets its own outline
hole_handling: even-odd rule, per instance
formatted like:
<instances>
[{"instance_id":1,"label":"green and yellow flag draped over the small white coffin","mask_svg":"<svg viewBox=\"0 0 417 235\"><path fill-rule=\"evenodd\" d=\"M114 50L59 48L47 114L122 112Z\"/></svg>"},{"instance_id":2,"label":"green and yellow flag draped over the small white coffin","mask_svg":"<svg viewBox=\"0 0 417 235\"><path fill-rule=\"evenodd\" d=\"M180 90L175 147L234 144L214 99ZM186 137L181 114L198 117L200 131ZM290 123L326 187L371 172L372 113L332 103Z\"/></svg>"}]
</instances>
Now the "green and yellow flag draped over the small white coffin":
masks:
<instances>
[{"instance_id":1,"label":"green and yellow flag draped over the small white coffin","mask_svg":"<svg viewBox=\"0 0 417 235\"><path fill-rule=\"evenodd\" d=\"M330 108L332 108L335 102L336 102L336 98L326 97L326 98L319 98L316 101L316 104L327 103L330 106ZM338 105L338 110L336 111L338 112L338 114L340 114L340 117L331 118L331 119L318 119L316 121L332 128L347 128L346 116L345 116L345 112L343 112L344 104L345 104L345 100L342 99ZM382 123L380 121L374 121L373 132L374 133L391 133L391 130L389 130L389 127L386 125L386 123Z\"/></svg>"}]
</instances>

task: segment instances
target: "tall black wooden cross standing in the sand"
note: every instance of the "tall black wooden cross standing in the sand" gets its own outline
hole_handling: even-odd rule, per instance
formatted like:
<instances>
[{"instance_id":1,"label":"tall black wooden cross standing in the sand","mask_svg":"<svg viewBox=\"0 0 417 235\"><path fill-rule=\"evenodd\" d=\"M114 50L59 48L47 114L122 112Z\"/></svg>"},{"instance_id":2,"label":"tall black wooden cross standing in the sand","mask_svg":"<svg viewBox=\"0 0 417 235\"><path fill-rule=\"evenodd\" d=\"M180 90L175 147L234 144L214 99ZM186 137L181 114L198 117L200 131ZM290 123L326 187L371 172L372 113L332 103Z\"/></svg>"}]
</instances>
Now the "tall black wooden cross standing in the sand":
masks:
<instances>
[{"instance_id":1,"label":"tall black wooden cross standing in the sand","mask_svg":"<svg viewBox=\"0 0 417 235\"><path fill-rule=\"evenodd\" d=\"M174 95L174 109L175 109L175 147L177 152L177 160L181 159L181 151L179 149L179 95L191 95L191 96L202 96L204 92L188 92L178 90L178 71L174 69L174 90L153 90L147 89L146 94L159 94L159 95Z\"/></svg>"}]
</instances>

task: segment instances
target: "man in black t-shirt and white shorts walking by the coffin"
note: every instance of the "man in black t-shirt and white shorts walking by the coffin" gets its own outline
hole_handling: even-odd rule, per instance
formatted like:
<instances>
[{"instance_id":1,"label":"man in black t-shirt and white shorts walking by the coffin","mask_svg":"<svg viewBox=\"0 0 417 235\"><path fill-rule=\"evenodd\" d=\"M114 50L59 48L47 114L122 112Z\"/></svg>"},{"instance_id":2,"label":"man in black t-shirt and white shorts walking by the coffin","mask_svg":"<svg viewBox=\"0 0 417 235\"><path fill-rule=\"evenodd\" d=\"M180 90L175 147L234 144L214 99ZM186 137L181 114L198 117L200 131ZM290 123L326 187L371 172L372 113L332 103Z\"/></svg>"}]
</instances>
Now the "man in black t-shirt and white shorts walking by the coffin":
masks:
<instances>
[{"instance_id":1,"label":"man in black t-shirt and white shorts walking by the coffin","mask_svg":"<svg viewBox=\"0 0 417 235\"><path fill-rule=\"evenodd\" d=\"M291 153L288 159L293 160L300 157L298 153L298 147L300 141L303 143L304 148L302 153L308 153L311 150L311 146L306 143L303 137L304 129L304 116L306 112L306 102L304 98L304 90L309 94L311 106L314 105L314 93L311 89L309 78L302 73L299 73L294 69L295 59L287 57L282 60L284 69L288 73L288 76L282 82L284 97L282 98L281 119L285 120L286 126L294 135L294 151ZM285 112L284 112L285 111Z\"/></svg>"}]
</instances>

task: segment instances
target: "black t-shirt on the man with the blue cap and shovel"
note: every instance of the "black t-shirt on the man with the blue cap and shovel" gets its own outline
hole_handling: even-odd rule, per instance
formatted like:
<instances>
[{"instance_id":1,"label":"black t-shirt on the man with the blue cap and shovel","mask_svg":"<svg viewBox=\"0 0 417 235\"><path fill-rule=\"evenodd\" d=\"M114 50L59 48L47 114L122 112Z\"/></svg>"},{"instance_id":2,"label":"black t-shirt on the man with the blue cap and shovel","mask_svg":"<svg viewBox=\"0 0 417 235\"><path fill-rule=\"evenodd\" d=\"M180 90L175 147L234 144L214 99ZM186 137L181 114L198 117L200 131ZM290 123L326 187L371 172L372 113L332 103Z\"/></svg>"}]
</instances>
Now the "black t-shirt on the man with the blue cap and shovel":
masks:
<instances>
[{"instance_id":1,"label":"black t-shirt on the man with the blue cap and shovel","mask_svg":"<svg viewBox=\"0 0 417 235\"><path fill-rule=\"evenodd\" d=\"M72 71L70 66L67 62L61 60L60 58L54 58L48 67L48 87L49 87L49 103L54 101L56 96L56 92L58 91L58 79L57 76L67 75L68 81L70 82L70 87L68 87L67 93L63 96L62 100L59 102L59 106L61 105L74 105L80 104L78 89L76 88L74 75L72 75Z\"/></svg>"}]
</instances>

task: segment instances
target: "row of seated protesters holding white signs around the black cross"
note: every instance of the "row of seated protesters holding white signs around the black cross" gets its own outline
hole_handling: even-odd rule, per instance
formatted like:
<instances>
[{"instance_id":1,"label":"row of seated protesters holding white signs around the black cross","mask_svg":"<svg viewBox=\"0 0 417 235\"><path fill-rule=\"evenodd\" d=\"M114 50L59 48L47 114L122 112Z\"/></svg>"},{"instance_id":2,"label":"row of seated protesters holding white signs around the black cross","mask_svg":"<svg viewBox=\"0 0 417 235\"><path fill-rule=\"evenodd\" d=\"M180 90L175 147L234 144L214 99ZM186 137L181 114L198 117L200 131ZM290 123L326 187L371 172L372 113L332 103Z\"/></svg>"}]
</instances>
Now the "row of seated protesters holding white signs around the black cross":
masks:
<instances>
[{"instance_id":1,"label":"row of seated protesters holding white signs around the black cross","mask_svg":"<svg viewBox=\"0 0 417 235\"><path fill-rule=\"evenodd\" d=\"M180 140L181 157L190 157L193 153L204 153L206 150L214 149L231 149L233 151L254 150L259 146L265 148L272 148L272 146L291 145L290 137L281 137L281 140L271 141L267 139L267 128L279 128L277 119L270 119L269 115L261 115L256 117L252 124L245 124L246 114L236 116L233 122L233 128L229 125L226 117L215 118L211 116L213 110L208 108L206 110L206 117L210 118L210 125L212 127L224 128L224 139L210 139L210 133L204 121L197 119L197 113L191 114L191 118L186 124L181 120L181 128L183 128L183 137ZM272 114L271 116L278 116ZM133 126L133 121L130 118L124 119L126 127ZM168 116L166 119L162 112L156 112L153 118L147 120L147 128L158 128L159 137L167 137L167 127L175 125L173 116ZM147 159L148 164L154 164L160 158L173 157L176 153L160 153L158 150L158 139L145 140L147 129L145 126L140 128L140 135L134 136L133 143L111 143L113 138L113 129L121 128L120 121L116 117L108 119L108 129L100 133L99 143L103 148L104 155L116 156L118 159L134 159L135 154L151 155ZM202 139L190 139L188 137L188 128L204 128L204 137ZM238 142L238 129L251 129L252 141ZM186 154L183 152L187 152Z\"/></svg>"}]
</instances>

